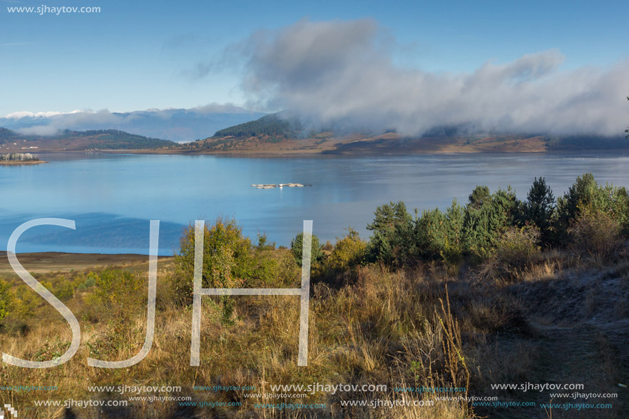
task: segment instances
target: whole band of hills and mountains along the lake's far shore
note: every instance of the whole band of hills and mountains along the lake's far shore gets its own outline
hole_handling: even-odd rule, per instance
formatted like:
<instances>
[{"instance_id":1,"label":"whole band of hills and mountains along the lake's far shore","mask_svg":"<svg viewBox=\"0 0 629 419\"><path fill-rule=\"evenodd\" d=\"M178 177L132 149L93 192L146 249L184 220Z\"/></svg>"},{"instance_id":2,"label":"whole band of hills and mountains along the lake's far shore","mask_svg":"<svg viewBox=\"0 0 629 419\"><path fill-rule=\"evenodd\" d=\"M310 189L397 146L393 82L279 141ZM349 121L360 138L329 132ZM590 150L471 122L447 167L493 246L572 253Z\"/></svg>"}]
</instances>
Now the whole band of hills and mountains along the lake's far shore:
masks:
<instances>
[{"instance_id":1,"label":"whole band of hills and mountains along the lake's far shore","mask_svg":"<svg viewBox=\"0 0 629 419\"><path fill-rule=\"evenodd\" d=\"M229 112L227 112L229 111ZM326 128L313 128L312 124L289 117L284 112L264 115L235 106L208 106L201 110L170 109L112 114L107 112L70 112L60 114L29 114L19 112L0 119L0 123L12 121L23 124L18 131L0 128L1 152L80 151L88 149L134 149L163 154L418 154L418 153L466 153L466 152L573 152L573 151L629 151L629 139L624 135L606 137L597 135L553 136L544 133L506 134L479 132L471 125L436 127L422 135L408 136L385 130L375 132L351 128L342 123ZM205 117L202 117L205 115ZM263 115L254 120L254 115ZM156 139L122 130L68 130L58 129L64 123L73 125L94 123L133 125L145 131L166 129L169 123L183 124L189 118L190 130L199 130L203 123L211 126L209 119L245 119L246 122L220 126L213 136L183 144ZM219 117L220 116L220 117ZM38 121L40 125L35 123ZM122 122L121 122L122 121ZM198 123L204 121L203 123ZM26 126L32 124L31 126ZM11 124L9 124L11 125ZM109 128L112 125L103 125ZM179 125L178 125L179 126ZM224 128L227 126L227 128ZM180 126L177 129L183 130ZM175 129L175 128L173 128ZM50 135L46 130L52 130ZM210 131L211 132L211 131Z\"/></svg>"}]
</instances>

